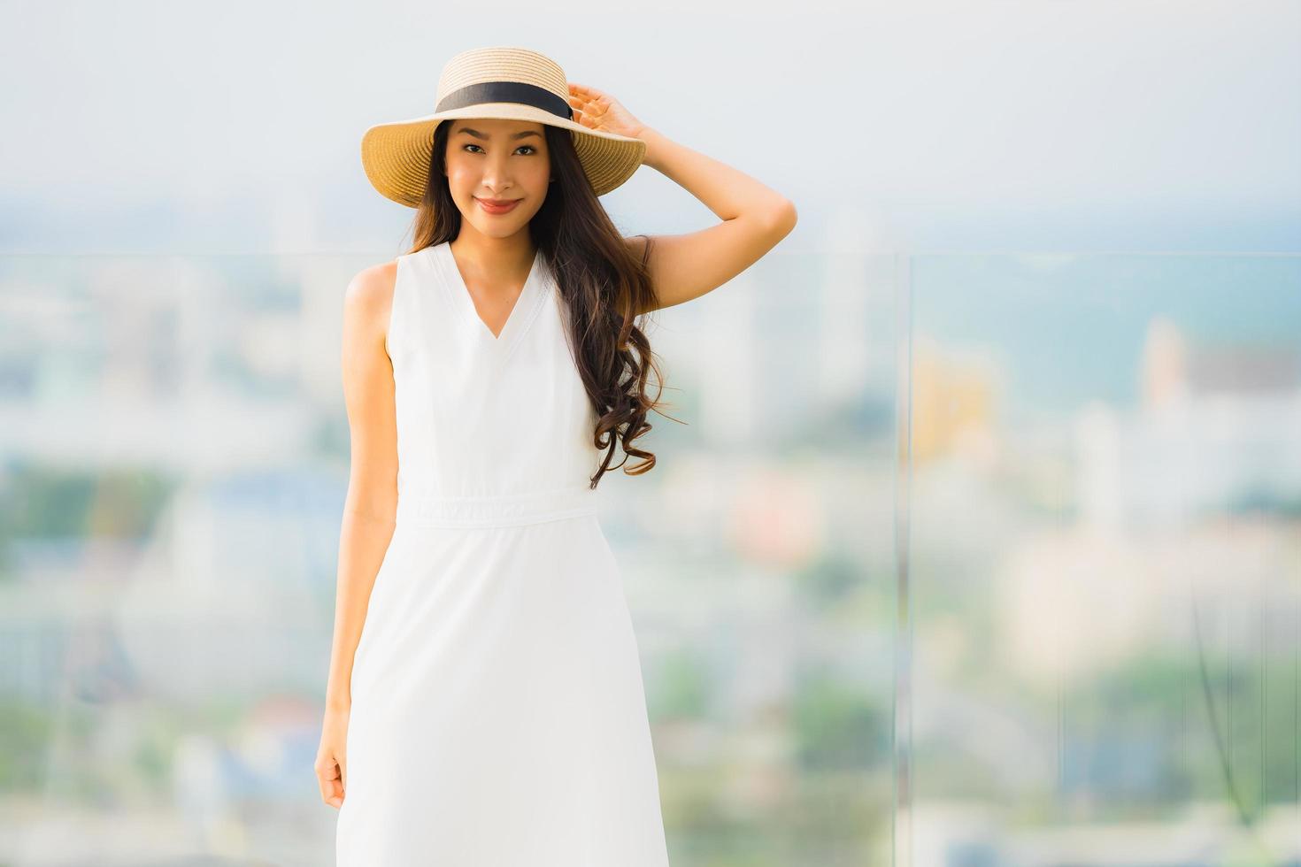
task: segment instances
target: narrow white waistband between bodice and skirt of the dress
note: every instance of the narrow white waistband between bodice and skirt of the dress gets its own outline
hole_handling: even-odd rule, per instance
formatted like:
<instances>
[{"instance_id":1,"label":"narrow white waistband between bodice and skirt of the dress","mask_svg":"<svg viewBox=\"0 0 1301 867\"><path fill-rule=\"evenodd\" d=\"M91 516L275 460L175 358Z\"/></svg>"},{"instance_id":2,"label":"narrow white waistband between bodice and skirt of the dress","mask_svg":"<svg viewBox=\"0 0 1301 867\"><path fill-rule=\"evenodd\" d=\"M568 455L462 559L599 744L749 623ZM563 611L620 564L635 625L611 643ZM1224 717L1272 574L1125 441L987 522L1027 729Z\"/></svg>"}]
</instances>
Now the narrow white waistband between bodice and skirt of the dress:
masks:
<instances>
[{"instance_id":1,"label":"narrow white waistband between bodice and skirt of the dress","mask_svg":"<svg viewBox=\"0 0 1301 867\"><path fill-rule=\"evenodd\" d=\"M513 526L595 515L597 491L587 485L524 494L444 497L398 494L397 524L422 526Z\"/></svg>"}]
</instances>

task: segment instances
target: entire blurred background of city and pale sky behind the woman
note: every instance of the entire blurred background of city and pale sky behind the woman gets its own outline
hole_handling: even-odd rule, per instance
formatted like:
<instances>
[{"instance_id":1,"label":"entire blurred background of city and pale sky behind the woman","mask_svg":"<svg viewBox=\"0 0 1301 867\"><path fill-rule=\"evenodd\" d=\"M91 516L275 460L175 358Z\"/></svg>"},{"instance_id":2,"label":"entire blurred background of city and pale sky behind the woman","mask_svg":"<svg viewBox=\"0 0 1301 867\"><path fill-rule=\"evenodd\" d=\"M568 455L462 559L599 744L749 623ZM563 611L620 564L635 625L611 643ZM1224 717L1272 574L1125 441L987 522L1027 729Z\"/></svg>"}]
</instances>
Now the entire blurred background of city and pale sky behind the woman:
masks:
<instances>
[{"instance_id":1,"label":"entire blurred background of city and pale sky behind the woman","mask_svg":"<svg viewBox=\"0 0 1301 867\"><path fill-rule=\"evenodd\" d=\"M356 143L477 44L800 209L602 480L675 866L1301 864L1301 4L597 9L0 5L0 866L333 863Z\"/></svg>"}]
</instances>

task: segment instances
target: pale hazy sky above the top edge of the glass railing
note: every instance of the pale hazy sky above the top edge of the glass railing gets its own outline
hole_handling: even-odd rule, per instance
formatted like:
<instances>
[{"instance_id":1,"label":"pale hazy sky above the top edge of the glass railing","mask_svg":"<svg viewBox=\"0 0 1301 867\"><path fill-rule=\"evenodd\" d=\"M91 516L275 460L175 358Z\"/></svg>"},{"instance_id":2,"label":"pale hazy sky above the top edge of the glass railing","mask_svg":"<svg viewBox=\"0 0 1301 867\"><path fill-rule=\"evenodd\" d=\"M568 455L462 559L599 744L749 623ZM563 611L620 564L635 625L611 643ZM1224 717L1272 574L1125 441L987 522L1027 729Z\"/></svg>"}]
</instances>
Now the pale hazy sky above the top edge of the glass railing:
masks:
<instances>
[{"instance_id":1,"label":"pale hazy sky above the top edge of the glass railing","mask_svg":"<svg viewBox=\"0 0 1301 867\"><path fill-rule=\"evenodd\" d=\"M392 251L360 134L492 44L794 199L795 247L1301 248L1301 0L3 0L0 252ZM604 201L713 218L648 168Z\"/></svg>"}]
</instances>

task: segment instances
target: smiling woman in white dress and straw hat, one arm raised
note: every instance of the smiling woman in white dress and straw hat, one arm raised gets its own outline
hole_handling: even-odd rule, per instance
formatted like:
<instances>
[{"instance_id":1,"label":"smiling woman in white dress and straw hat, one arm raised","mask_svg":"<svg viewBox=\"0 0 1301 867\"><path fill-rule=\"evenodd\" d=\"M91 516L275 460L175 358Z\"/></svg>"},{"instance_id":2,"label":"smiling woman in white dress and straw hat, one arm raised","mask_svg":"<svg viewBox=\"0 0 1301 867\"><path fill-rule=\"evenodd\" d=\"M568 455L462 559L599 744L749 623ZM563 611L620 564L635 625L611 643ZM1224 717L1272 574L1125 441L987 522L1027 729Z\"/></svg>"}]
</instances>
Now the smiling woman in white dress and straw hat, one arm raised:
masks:
<instances>
[{"instance_id":1,"label":"smiling woman in white dress and straw hat, one arm raised","mask_svg":"<svg viewBox=\"0 0 1301 867\"><path fill-rule=\"evenodd\" d=\"M667 864L593 498L627 456L654 465L632 446L656 408L637 317L743 272L795 208L523 48L457 55L437 112L371 127L362 155L416 218L412 250L345 302L351 477L316 759L337 863ZM621 237L597 196L643 162L722 222Z\"/></svg>"}]
</instances>

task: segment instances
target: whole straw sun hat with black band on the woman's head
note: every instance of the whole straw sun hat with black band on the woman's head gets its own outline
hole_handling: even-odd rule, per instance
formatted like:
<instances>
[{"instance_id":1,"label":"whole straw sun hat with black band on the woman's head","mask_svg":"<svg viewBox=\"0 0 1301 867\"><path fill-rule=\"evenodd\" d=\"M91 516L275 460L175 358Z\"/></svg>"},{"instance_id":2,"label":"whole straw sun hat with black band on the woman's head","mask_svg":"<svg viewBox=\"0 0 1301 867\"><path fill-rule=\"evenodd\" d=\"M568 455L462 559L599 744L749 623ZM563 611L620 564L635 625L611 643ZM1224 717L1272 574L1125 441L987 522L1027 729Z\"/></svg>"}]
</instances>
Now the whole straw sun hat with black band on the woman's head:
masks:
<instances>
[{"instance_id":1,"label":"whole straw sun hat with black band on the woman's head","mask_svg":"<svg viewBox=\"0 0 1301 867\"><path fill-rule=\"evenodd\" d=\"M569 96L565 70L545 55L511 45L463 51L442 68L433 114L366 130L362 166L384 196L415 208L428 182L438 123L459 117L537 121L570 131L592 191L604 195L637 170L645 142L576 123Z\"/></svg>"}]
</instances>

